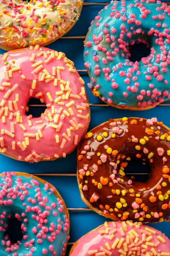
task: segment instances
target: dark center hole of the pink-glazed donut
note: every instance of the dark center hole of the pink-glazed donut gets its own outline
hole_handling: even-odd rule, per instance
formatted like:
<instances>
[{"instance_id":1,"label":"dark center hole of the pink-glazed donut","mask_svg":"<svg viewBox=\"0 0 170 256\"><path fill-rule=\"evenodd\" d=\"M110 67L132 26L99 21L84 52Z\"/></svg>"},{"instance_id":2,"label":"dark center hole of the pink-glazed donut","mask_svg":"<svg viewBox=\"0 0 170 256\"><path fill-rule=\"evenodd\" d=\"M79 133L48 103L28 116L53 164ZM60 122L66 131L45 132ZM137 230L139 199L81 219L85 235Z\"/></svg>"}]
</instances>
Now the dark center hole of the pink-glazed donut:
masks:
<instances>
[{"instance_id":1,"label":"dark center hole of the pink-glazed donut","mask_svg":"<svg viewBox=\"0 0 170 256\"><path fill-rule=\"evenodd\" d=\"M28 111L26 111L26 115L32 115L32 117L40 117L42 113L44 113L47 108L44 103L40 102L40 99L30 98L27 103Z\"/></svg>"}]
</instances>

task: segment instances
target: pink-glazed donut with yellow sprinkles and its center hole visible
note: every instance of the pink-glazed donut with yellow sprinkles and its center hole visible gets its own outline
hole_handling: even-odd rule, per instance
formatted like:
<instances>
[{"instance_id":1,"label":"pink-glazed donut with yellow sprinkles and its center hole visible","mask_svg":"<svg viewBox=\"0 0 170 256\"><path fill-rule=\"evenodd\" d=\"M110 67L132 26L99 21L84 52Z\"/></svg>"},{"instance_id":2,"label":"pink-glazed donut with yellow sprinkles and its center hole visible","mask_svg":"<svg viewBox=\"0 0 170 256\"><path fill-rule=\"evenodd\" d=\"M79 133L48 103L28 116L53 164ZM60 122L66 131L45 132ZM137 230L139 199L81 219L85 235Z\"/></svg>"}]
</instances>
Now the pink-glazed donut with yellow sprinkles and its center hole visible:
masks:
<instances>
[{"instance_id":1,"label":"pink-glazed donut with yellow sprinkles and its center hole visible","mask_svg":"<svg viewBox=\"0 0 170 256\"><path fill-rule=\"evenodd\" d=\"M26 115L30 98L45 102ZM0 153L26 162L65 157L90 121L84 81L73 61L48 48L23 48L0 57Z\"/></svg>"}]
</instances>

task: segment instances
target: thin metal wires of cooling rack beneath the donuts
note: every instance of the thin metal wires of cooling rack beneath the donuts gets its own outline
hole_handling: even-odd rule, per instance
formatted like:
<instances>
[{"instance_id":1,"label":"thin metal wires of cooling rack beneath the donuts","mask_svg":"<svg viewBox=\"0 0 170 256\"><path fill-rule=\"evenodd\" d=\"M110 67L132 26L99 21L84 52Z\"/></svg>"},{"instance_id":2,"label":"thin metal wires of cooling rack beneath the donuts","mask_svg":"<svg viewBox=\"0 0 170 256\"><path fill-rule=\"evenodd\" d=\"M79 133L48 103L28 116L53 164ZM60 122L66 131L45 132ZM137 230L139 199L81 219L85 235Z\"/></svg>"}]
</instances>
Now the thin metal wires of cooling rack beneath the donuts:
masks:
<instances>
[{"instance_id":1,"label":"thin metal wires of cooling rack beneath the donuts","mask_svg":"<svg viewBox=\"0 0 170 256\"><path fill-rule=\"evenodd\" d=\"M167 4L170 4L170 2L166 2ZM109 3L83 3L83 6L106 6ZM60 39L85 39L85 35L79 35L79 36L64 36ZM77 69L77 71L79 73L85 73L88 75L87 70L85 69ZM107 105L106 103L102 103L102 104L97 104L97 103L89 103L90 107L110 107L109 105ZM170 103L161 103L156 107L159 106L170 106ZM41 105L28 105L28 107L45 107L45 104L41 104ZM33 173L32 175L36 175L36 176L67 176L67 177L76 177L77 174L76 173ZM148 175L148 173L128 173L128 175ZM92 210L89 208L68 208L68 211L70 212L75 212L75 211L83 211L83 212L91 212ZM68 242L68 245L73 245L74 242Z\"/></svg>"}]
</instances>

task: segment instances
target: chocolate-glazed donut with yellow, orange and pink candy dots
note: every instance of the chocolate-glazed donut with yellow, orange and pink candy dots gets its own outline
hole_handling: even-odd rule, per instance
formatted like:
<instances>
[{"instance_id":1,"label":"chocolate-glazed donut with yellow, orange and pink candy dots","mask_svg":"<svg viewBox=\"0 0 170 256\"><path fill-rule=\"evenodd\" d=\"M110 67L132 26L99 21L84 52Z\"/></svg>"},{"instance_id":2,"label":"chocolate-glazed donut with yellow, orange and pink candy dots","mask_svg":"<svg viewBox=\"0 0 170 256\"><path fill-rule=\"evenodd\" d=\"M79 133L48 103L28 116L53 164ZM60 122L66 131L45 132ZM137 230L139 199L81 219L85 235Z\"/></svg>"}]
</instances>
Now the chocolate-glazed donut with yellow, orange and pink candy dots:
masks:
<instances>
[{"instance_id":1,"label":"chocolate-glazed donut with yellow, orange and pink candy dots","mask_svg":"<svg viewBox=\"0 0 170 256\"><path fill-rule=\"evenodd\" d=\"M147 181L126 175L129 161L150 169ZM152 119L110 119L79 144L82 200L112 220L161 222L170 217L170 129Z\"/></svg>"}]
</instances>

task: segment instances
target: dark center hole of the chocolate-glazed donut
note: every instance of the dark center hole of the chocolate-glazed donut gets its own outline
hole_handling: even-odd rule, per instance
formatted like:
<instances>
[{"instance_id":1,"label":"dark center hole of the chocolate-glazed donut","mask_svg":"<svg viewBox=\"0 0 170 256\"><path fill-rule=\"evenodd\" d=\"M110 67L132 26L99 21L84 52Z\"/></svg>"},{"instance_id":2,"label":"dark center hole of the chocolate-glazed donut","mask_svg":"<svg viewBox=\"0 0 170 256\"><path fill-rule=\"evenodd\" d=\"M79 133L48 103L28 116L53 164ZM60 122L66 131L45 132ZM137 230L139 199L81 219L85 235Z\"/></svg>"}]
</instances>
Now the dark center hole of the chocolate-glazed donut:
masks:
<instances>
[{"instance_id":1,"label":"dark center hole of the chocolate-glazed donut","mask_svg":"<svg viewBox=\"0 0 170 256\"><path fill-rule=\"evenodd\" d=\"M144 164L140 159L128 161L128 165L125 168L125 174L129 179L139 182L146 182L151 177L149 166Z\"/></svg>"}]
</instances>

